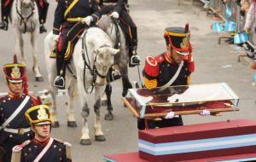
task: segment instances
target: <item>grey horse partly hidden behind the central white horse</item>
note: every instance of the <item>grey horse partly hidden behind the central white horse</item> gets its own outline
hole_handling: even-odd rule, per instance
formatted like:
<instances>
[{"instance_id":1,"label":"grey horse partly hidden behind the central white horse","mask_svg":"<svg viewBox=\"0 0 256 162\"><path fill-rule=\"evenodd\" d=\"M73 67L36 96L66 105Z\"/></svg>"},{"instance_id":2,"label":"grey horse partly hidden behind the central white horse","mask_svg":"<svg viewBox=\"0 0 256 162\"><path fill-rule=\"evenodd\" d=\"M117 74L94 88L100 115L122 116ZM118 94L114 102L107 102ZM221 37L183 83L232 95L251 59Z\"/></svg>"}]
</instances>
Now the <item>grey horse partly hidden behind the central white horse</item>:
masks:
<instances>
[{"instance_id":1,"label":"grey horse partly hidden behind the central white horse","mask_svg":"<svg viewBox=\"0 0 256 162\"><path fill-rule=\"evenodd\" d=\"M102 28L103 31L108 33L108 36L112 39L113 43L115 44L115 49L119 49L119 55L114 56L114 64L117 66L119 71L122 75L122 83L123 83L123 93L122 95L125 96L127 94L128 89L132 88L131 82L128 78L128 62L129 62L129 46L125 39L125 33L119 26L118 21L114 23L113 18L104 14L102 18L97 21L97 25ZM105 116L107 120L113 120L113 107L111 104L111 93L112 88L111 85L108 83L106 87L106 95L107 95L107 104L108 104L108 113Z\"/></svg>"}]
</instances>

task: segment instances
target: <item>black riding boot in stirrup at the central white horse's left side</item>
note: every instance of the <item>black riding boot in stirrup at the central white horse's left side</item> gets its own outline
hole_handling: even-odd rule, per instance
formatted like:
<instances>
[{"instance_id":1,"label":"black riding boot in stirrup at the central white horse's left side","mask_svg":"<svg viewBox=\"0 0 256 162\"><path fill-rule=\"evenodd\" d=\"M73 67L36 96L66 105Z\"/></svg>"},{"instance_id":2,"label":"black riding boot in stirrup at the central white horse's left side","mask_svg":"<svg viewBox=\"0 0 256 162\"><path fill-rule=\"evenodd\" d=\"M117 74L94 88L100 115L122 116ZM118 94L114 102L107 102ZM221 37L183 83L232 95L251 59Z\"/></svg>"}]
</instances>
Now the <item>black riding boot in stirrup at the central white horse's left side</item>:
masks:
<instances>
[{"instance_id":1,"label":"black riding boot in stirrup at the central white horse's left side","mask_svg":"<svg viewBox=\"0 0 256 162\"><path fill-rule=\"evenodd\" d=\"M57 53L56 65L57 65L57 77L55 78L55 87L64 90L65 89L65 72L66 64L64 61L64 54L62 52Z\"/></svg>"}]
</instances>

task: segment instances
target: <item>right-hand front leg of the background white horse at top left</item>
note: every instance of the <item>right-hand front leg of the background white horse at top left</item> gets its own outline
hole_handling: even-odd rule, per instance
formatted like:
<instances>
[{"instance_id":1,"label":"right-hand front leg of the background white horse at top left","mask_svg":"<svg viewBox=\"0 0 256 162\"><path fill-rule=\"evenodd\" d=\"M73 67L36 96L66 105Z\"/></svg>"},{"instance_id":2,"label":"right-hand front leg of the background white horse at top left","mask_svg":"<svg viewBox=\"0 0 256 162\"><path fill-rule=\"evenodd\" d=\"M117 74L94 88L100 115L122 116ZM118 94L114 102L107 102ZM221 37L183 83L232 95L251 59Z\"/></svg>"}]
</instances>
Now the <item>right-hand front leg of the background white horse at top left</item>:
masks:
<instances>
[{"instance_id":1,"label":"right-hand front leg of the background white horse at top left","mask_svg":"<svg viewBox=\"0 0 256 162\"><path fill-rule=\"evenodd\" d=\"M38 32L36 30L36 32ZM32 43L32 58L33 58L33 72L35 72L35 79L38 82L43 82L44 78L40 72L38 66L38 38L35 32L31 33L31 43Z\"/></svg>"}]
</instances>

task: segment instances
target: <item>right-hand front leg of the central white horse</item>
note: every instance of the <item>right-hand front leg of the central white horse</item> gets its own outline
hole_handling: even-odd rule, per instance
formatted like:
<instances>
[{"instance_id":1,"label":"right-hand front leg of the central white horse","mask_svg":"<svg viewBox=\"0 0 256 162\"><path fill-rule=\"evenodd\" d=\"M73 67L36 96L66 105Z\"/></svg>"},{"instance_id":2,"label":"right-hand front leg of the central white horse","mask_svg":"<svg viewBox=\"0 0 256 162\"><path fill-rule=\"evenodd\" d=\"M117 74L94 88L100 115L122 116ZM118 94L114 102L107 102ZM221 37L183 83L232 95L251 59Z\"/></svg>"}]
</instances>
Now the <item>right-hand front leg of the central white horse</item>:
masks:
<instances>
[{"instance_id":1,"label":"right-hand front leg of the central white horse","mask_svg":"<svg viewBox=\"0 0 256 162\"><path fill-rule=\"evenodd\" d=\"M101 108L101 100L102 100L102 93L103 93L104 87L96 87L95 88L95 99L96 103L94 104L94 113L96 113L95 120L94 120L94 129L96 131L95 133L95 140L97 142L103 142L106 140L103 132L102 132L102 124L101 124L101 114L100 114L100 108Z\"/></svg>"}]
</instances>

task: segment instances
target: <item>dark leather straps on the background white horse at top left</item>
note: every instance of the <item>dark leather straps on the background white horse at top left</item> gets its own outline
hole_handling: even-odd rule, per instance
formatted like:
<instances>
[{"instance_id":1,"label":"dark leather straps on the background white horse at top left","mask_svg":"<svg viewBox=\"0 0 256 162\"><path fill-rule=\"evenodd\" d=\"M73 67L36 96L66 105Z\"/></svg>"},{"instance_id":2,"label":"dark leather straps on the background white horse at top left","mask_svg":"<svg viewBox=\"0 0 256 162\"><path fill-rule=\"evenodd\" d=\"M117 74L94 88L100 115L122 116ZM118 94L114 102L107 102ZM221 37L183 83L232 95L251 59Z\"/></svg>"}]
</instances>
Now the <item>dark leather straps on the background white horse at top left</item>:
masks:
<instances>
[{"instance_id":1,"label":"dark leather straps on the background white horse at top left","mask_svg":"<svg viewBox=\"0 0 256 162\"><path fill-rule=\"evenodd\" d=\"M32 15L35 12L35 3L34 3L34 0L31 0L29 5L27 7L25 7L23 5L23 1L24 0L20 0L20 10L18 9L18 2L15 3L15 7L16 7L17 14L20 16L20 26L21 26L21 23L24 23L23 33L26 33L26 22L27 22L27 20L29 20L32 17ZM23 16L23 13L22 13L23 8L30 8L31 9L31 13L28 14L26 17Z\"/></svg>"}]
</instances>

